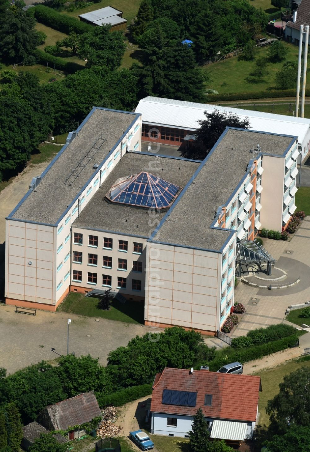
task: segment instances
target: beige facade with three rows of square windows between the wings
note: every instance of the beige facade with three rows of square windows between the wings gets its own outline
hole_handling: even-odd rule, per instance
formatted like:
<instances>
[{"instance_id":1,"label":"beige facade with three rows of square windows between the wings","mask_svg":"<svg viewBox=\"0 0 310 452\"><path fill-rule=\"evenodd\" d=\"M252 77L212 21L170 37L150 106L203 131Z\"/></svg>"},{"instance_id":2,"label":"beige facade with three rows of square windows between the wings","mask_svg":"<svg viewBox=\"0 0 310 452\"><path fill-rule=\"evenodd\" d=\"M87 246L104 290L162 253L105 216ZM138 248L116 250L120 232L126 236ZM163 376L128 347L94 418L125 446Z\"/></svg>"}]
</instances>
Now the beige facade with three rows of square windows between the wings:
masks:
<instances>
[{"instance_id":1,"label":"beige facade with three rows of square windows between the wings","mask_svg":"<svg viewBox=\"0 0 310 452\"><path fill-rule=\"evenodd\" d=\"M83 234L83 244L78 245L74 243L74 233ZM98 237L98 246L89 245L89 235L95 235ZM104 238L110 238L113 240L112 249L104 248ZM126 240L128 242L127 252L119 251L119 240ZM142 254L134 252L134 242L142 244ZM73 253L82 253L82 263L78 264L73 262ZM88 254L97 255L97 265L88 263ZM112 258L112 268L104 267L103 257L107 256ZM127 260L127 270L119 269L119 259ZM134 261L138 261L142 264L141 272L134 272L133 264ZM102 275L111 276L111 288L118 288L118 278L126 278L126 288L119 289L119 292L126 297L141 297L144 298L144 287L145 287L145 262L146 262L146 239L140 237L131 237L128 235L113 234L102 231L92 231L88 229L81 229L72 227L72 255L71 255L71 285L80 286L86 290L92 290L94 288L100 288L102 290L108 287L102 285ZM81 282L73 280L73 271L78 270L82 272ZM88 282L88 273L96 273L97 282L95 284ZM132 288L133 280L141 281L141 291L134 290Z\"/></svg>"}]
</instances>

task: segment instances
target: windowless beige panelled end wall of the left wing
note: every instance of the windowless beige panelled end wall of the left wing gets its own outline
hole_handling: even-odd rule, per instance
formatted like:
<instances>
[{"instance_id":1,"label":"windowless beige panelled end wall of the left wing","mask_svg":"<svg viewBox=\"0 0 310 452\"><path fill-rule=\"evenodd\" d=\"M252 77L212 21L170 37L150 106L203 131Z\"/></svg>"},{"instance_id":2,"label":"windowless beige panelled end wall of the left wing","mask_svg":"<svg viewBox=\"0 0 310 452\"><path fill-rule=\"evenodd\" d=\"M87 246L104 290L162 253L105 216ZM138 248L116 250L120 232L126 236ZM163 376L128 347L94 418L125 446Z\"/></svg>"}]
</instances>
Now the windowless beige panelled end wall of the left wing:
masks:
<instances>
[{"instance_id":1,"label":"windowless beige panelled end wall of the left wing","mask_svg":"<svg viewBox=\"0 0 310 452\"><path fill-rule=\"evenodd\" d=\"M5 297L56 304L55 228L6 220Z\"/></svg>"}]
</instances>

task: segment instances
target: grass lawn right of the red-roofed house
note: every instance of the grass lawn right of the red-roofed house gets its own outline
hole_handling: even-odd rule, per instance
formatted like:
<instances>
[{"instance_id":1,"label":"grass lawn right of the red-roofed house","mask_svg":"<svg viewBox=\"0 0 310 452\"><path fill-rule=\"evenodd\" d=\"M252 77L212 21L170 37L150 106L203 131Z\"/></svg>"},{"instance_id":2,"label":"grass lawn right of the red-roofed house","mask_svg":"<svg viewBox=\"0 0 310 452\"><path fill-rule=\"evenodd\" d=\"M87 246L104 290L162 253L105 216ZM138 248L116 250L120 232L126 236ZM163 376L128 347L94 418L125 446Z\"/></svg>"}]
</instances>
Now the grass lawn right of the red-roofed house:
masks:
<instances>
[{"instance_id":1,"label":"grass lawn right of the red-roofed house","mask_svg":"<svg viewBox=\"0 0 310 452\"><path fill-rule=\"evenodd\" d=\"M267 401L273 399L273 397L279 392L279 383L283 381L283 377L296 371L297 369L300 369L300 367L309 366L310 357L302 357L294 359L289 363L281 364L280 366L255 374L259 375L262 379L262 392L259 393L258 401L258 411L260 412L258 425L269 425L269 416L265 411Z\"/></svg>"}]
</instances>

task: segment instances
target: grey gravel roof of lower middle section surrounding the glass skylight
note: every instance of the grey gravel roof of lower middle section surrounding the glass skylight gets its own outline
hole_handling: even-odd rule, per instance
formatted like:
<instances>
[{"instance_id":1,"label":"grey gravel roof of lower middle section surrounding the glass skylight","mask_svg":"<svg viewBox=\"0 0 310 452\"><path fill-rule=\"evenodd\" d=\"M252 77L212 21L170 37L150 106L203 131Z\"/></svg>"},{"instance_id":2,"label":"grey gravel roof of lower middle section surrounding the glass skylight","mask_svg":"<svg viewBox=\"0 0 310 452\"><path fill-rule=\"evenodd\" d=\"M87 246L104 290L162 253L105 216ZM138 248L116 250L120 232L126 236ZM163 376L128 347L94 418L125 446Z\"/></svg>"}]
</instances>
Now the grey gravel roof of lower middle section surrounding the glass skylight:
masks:
<instances>
[{"instance_id":1,"label":"grey gravel roof of lower middle section surrounding the glass skylight","mask_svg":"<svg viewBox=\"0 0 310 452\"><path fill-rule=\"evenodd\" d=\"M149 215L149 210L106 201L105 195L111 186L121 177L147 171L184 188L199 165L200 162L195 160L179 160L128 152L105 179L72 226L149 237L158 224L154 226L154 217ZM160 221L166 212L160 212L156 219ZM182 224L184 225L184 221ZM184 232L186 234L186 226L184 226Z\"/></svg>"}]
</instances>

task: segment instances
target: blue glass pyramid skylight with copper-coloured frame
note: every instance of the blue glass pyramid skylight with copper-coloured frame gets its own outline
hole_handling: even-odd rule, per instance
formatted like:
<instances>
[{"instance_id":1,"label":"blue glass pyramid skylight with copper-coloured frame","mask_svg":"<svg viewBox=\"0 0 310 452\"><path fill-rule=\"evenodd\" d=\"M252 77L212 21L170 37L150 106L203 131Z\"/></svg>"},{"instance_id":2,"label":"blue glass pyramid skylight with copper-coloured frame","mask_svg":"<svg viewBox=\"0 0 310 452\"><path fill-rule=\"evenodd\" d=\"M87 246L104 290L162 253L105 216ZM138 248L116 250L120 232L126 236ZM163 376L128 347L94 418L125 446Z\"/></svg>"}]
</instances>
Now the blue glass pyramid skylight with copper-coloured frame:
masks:
<instances>
[{"instance_id":1,"label":"blue glass pyramid skylight with copper-coloured frame","mask_svg":"<svg viewBox=\"0 0 310 452\"><path fill-rule=\"evenodd\" d=\"M110 202L137 207L167 209L182 188L153 174L142 172L118 179L105 197Z\"/></svg>"}]
</instances>

